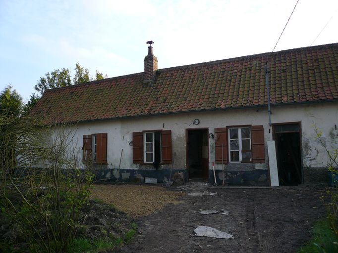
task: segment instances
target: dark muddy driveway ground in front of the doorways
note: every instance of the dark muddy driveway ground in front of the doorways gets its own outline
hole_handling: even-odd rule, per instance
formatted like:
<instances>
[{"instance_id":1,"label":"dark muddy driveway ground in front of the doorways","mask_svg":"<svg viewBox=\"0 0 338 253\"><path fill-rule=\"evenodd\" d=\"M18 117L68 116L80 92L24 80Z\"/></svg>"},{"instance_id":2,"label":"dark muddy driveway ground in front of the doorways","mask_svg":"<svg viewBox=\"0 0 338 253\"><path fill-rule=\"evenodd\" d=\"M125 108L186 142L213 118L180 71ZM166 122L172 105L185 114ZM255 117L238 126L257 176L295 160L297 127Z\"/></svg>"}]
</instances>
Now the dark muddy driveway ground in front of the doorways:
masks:
<instances>
[{"instance_id":1,"label":"dark muddy driveway ground in front of the doorways","mask_svg":"<svg viewBox=\"0 0 338 253\"><path fill-rule=\"evenodd\" d=\"M212 188L189 183L174 190L187 193L182 202L138 218L138 234L121 253L292 253L309 240L313 223L326 213L320 201L324 188ZM204 215L200 209L229 214ZM198 226L214 227L234 239L197 237Z\"/></svg>"}]
</instances>

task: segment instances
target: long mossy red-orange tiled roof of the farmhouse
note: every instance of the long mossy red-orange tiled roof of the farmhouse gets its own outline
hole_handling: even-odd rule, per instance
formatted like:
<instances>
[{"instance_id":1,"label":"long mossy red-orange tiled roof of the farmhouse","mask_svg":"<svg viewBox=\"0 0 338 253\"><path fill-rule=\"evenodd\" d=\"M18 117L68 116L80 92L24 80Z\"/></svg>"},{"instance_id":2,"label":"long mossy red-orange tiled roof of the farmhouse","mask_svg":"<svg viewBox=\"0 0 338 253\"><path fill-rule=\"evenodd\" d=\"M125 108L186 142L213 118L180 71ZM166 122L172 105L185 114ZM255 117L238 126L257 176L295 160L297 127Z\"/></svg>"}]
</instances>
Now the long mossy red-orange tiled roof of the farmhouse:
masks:
<instances>
[{"instance_id":1,"label":"long mossy red-orange tiled roof of the farmhouse","mask_svg":"<svg viewBox=\"0 0 338 253\"><path fill-rule=\"evenodd\" d=\"M338 101L334 43L159 69L154 84L137 73L51 89L31 114L60 123L262 106L267 61L272 105Z\"/></svg>"}]
</instances>

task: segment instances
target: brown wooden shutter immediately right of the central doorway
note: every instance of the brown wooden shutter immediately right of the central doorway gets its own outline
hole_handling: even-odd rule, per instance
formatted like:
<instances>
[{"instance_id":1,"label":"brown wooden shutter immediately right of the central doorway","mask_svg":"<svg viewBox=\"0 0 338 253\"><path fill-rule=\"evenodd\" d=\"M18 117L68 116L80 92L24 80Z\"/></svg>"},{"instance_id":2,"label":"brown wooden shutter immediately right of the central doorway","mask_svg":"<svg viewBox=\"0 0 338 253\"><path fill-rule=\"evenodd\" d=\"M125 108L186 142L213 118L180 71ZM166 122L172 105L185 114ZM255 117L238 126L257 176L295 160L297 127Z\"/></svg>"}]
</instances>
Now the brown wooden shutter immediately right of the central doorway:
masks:
<instances>
[{"instance_id":1,"label":"brown wooden shutter immediately right of the central doorway","mask_svg":"<svg viewBox=\"0 0 338 253\"><path fill-rule=\"evenodd\" d=\"M222 143L223 143L223 163L227 164L226 127L215 128L215 162L217 164L222 164Z\"/></svg>"}]
</instances>

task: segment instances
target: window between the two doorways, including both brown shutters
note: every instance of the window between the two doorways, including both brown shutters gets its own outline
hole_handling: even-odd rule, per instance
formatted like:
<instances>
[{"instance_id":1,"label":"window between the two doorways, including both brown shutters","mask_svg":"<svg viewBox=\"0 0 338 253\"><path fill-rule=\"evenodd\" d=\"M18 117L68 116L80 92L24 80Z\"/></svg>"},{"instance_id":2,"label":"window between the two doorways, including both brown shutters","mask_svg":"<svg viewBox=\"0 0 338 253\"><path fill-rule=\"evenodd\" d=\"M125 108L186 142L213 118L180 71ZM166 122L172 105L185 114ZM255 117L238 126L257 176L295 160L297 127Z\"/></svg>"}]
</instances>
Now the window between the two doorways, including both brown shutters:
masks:
<instances>
[{"instance_id":1,"label":"window between the two doorways, including both brown shutters","mask_svg":"<svg viewBox=\"0 0 338 253\"><path fill-rule=\"evenodd\" d=\"M265 163L263 126L215 128L215 162Z\"/></svg>"}]
</instances>

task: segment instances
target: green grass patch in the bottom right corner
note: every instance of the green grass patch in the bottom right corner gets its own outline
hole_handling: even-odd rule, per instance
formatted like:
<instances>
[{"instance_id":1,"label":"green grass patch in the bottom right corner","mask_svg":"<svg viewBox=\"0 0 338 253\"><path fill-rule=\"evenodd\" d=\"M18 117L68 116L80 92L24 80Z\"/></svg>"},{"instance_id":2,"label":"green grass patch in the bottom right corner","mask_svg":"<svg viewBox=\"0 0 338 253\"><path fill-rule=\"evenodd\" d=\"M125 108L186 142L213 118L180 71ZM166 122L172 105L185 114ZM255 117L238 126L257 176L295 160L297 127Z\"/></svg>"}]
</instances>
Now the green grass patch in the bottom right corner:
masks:
<instances>
[{"instance_id":1,"label":"green grass patch in the bottom right corner","mask_svg":"<svg viewBox=\"0 0 338 253\"><path fill-rule=\"evenodd\" d=\"M318 221L313 230L310 241L303 245L297 253L337 253L338 238L329 227L327 219Z\"/></svg>"}]
</instances>

